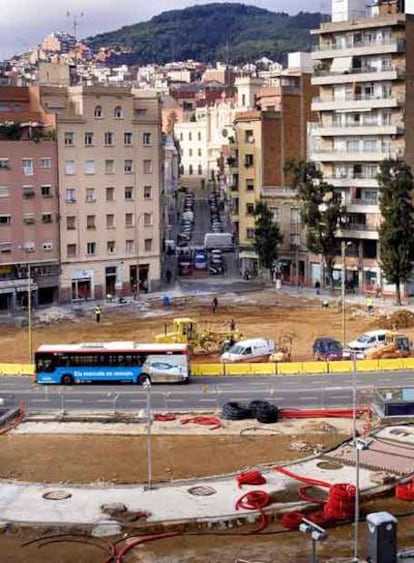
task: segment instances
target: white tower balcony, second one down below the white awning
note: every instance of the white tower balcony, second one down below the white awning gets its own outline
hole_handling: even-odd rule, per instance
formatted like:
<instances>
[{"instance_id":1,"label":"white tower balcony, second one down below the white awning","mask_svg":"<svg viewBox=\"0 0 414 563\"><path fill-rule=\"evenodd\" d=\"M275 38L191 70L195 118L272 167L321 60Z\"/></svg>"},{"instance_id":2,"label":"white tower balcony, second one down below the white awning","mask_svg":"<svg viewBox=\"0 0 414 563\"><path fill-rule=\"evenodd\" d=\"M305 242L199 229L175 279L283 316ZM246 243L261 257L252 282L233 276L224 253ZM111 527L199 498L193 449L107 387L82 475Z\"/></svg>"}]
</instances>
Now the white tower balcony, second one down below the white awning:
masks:
<instances>
[{"instance_id":1,"label":"white tower balcony, second one down below the white awning","mask_svg":"<svg viewBox=\"0 0 414 563\"><path fill-rule=\"evenodd\" d=\"M355 94L344 98L324 96L313 98L312 111L350 110L362 111L381 108L396 108L404 104L403 96L376 96Z\"/></svg>"}]
</instances>

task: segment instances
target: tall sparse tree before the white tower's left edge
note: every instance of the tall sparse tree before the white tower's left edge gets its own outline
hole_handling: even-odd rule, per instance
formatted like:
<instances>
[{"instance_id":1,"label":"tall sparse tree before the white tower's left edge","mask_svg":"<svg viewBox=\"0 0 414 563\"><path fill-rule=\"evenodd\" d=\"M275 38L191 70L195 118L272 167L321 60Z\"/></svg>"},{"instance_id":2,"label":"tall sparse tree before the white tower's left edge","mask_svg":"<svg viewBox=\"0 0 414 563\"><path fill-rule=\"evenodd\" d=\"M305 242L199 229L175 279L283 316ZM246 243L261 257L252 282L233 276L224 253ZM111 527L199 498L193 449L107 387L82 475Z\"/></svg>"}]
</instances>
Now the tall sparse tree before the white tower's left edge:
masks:
<instances>
[{"instance_id":1,"label":"tall sparse tree before the white tower's left edge","mask_svg":"<svg viewBox=\"0 0 414 563\"><path fill-rule=\"evenodd\" d=\"M286 171L297 189L301 220L306 227L307 248L313 254L323 256L326 274L333 286L333 270L338 254L336 235L345 209L333 186L324 181L315 163L290 161Z\"/></svg>"}]
</instances>

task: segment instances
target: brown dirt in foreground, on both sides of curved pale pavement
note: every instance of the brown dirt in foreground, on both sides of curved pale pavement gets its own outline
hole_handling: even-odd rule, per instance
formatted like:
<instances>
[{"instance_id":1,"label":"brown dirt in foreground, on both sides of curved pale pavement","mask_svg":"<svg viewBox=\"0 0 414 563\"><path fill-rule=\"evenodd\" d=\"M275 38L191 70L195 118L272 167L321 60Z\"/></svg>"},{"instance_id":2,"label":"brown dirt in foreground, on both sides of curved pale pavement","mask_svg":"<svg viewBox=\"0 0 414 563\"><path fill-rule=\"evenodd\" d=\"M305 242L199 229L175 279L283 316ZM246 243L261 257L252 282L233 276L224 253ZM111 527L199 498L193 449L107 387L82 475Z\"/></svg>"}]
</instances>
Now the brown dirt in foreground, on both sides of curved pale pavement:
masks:
<instances>
[{"instance_id":1,"label":"brown dirt in foreground, on both sides of curved pale pavement","mask_svg":"<svg viewBox=\"0 0 414 563\"><path fill-rule=\"evenodd\" d=\"M297 438L297 437L296 437ZM333 445L343 438L338 434L307 435L314 445ZM292 436L156 436L154 437L154 473L157 479L205 475L240 470L252 461L286 461L298 457L288 449ZM300 439L300 437L299 437ZM188 456L188 451L196 452ZM192 461L197 459L197 464ZM53 463L51 462L53 460ZM142 436L24 436L9 434L0 438L0 477L41 481L134 482L145 479L145 444ZM414 544L414 517L410 503L380 499L362 504L362 513L387 510L399 518L399 547ZM264 533L248 535L252 528L226 531L200 531L162 539L134 548L124 563L308 563L309 538L299 532L287 532L272 524ZM80 530L78 530L80 532ZM96 544L74 543L56 538L57 543L42 546L24 543L56 530L18 529L0 532L0 563L103 563L103 540ZM130 531L132 534L133 531ZM247 535L246 535L247 534ZM350 556L352 527L328 530L328 539L318 546L320 560L333 556ZM115 538L120 540L122 538ZM90 540L88 540L90 541ZM366 524L360 525L360 546L366 554Z\"/></svg>"}]
</instances>

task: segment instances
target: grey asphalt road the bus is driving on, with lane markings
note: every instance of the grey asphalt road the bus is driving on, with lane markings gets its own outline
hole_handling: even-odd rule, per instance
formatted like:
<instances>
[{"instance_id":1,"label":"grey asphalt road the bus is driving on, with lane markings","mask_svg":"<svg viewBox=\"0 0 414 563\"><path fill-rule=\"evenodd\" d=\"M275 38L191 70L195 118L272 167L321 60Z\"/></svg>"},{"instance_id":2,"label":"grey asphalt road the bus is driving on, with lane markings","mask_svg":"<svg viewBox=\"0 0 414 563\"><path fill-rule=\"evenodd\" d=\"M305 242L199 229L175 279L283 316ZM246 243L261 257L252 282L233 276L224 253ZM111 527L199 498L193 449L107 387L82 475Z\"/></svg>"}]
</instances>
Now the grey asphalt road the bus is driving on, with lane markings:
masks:
<instances>
[{"instance_id":1,"label":"grey asphalt road the bus is driving on, with lane markings","mask_svg":"<svg viewBox=\"0 0 414 563\"><path fill-rule=\"evenodd\" d=\"M374 387L414 386L414 372L357 374L357 401L365 404ZM31 411L141 410L145 391L131 384L48 386L30 377L1 377L0 399L6 405L24 400ZM351 407L352 374L307 376L197 377L188 385L153 385L154 410L211 411L227 401L266 399L279 407Z\"/></svg>"}]
</instances>

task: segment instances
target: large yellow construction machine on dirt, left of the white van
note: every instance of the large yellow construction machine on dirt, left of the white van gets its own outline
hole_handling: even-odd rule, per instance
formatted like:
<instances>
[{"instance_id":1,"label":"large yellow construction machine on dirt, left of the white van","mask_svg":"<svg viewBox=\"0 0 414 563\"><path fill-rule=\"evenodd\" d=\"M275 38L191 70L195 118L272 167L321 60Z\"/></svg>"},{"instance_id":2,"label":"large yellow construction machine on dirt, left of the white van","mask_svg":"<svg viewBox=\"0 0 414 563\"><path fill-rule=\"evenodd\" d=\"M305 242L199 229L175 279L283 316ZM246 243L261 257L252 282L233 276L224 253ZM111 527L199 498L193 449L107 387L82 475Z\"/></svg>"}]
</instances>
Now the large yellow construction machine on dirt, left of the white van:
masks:
<instances>
[{"instance_id":1,"label":"large yellow construction machine on dirt, left of the white van","mask_svg":"<svg viewBox=\"0 0 414 563\"><path fill-rule=\"evenodd\" d=\"M188 317L173 320L169 330L165 324L164 334L158 334L155 341L159 343L188 344L193 352L220 351L226 344L238 342L243 335L233 322L222 327L206 325L201 328L198 322Z\"/></svg>"}]
</instances>

